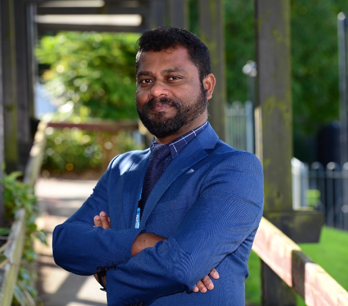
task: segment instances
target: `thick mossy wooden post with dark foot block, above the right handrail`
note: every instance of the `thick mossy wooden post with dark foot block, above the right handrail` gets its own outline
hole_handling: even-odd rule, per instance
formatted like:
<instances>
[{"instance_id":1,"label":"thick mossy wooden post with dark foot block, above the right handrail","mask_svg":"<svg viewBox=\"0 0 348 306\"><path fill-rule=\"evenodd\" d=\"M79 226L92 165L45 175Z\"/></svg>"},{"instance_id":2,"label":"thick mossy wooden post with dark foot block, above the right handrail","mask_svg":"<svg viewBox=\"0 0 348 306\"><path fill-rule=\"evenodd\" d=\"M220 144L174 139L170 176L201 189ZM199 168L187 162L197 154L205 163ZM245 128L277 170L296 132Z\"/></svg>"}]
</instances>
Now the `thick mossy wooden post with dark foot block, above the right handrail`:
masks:
<instances>
[{"instance_id":1,"label":"thick mossy wooden post with dark foot block, above the right handrail","mask_svg":"<svg viewBox=\"0 0 348 306\"><path fill-rule=\"evenodd\" d=\"M318 242L323 215L292 207L290 0L256 0L255 14L255 149L264 167L264 216L297 243Z\"/></svg>"}]
</instances>

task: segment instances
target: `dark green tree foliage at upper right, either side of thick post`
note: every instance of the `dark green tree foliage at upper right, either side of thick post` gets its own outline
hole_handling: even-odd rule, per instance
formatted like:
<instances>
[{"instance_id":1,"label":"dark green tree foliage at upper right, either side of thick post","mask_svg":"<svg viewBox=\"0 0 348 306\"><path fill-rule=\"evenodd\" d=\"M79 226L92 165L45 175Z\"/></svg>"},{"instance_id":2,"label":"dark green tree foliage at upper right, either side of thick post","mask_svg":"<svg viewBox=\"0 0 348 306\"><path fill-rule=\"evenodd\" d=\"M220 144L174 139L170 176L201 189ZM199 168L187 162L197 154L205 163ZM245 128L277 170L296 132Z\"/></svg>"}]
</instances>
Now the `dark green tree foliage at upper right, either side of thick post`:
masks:
<instances>
[{"instance_id":1,"label":"dark green tree foliage at upper right, either side of thick post","mask_svg":"<svg viewBox=\"0 0 348 306\"><path fill-rule=\"evenodd\" d=\"M225 0L228 101L246 101L242 68L255 61L254 2ZM293 122L296 135L315 135L338 119L337 14L348 14L340 0L291 1Z\"/></svg>"}]
</instances>

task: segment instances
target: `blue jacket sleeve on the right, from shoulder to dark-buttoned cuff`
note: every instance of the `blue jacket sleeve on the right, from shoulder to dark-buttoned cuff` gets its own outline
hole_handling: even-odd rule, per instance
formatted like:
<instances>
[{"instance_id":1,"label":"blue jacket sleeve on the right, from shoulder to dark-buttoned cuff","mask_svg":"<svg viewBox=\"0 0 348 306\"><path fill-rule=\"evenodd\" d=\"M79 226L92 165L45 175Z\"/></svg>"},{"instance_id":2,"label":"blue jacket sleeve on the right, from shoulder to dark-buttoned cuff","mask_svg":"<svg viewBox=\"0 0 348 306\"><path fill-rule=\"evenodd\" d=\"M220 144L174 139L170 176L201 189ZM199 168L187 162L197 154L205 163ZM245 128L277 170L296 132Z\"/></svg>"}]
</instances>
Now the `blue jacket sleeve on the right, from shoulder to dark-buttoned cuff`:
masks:
<instances>
[{"instance_id":1,"label":"blue jacket sleeve on the right, from shoulder to dark-buttoned cuff","mask_svg":"<svg viewBox=\"0 0 348 306\"><path fill-rule=\"evenodd\" d=\"M168 241L107 272L108 302L150 304L160 296L190 292L227 254L252 242L263 197L263 170L254 155L240 152L233 163L222 160L205 174L198 200Z\"/></svg>"}]
</instances>

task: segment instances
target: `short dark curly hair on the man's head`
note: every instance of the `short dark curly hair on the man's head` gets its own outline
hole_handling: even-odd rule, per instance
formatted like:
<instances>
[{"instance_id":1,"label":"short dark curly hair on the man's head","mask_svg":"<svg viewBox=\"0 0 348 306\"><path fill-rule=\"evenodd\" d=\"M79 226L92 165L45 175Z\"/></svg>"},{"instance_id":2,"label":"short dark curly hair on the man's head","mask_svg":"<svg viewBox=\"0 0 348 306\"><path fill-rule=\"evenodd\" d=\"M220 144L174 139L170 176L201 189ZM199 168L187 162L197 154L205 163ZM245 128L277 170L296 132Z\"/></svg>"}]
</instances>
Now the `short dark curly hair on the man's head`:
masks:
<instances>
[{"instance_id":1,"label":"short dark curly hair on the man's head","mask_svg":"<svg viewBox=\"0 0 348 306\"><path fill-rule=\"evenodd\" d=\"M160 52L184 47L189 60L198 68L201 81L211 73L208 47L196 35L185 29L159 26L145 31L138 39L137 45L136 68L138 68L140 53L143 51Z\"/></svg>"}]
</instances>

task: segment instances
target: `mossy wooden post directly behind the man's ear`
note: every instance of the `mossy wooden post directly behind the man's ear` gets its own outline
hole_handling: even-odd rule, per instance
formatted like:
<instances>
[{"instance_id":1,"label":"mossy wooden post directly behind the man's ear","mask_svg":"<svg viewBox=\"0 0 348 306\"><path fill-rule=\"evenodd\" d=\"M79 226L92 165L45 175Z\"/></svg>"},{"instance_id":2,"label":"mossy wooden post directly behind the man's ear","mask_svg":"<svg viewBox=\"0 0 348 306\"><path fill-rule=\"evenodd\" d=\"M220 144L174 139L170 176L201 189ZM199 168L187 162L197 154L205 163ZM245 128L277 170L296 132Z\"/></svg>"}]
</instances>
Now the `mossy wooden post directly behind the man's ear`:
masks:
<instances>
[{"instance_id":1,"label":"mossy wooden post directly behind the man's ear","mask_svg":"<svg viewBox=\"0 0 348 306\"><path fill-rule=\"evenodd\" d=\"M216 85L209 101L209 122L225 140L226 63L222 0L199 0L199 37L208 46Z\"/></svg>"}]
</instances>

